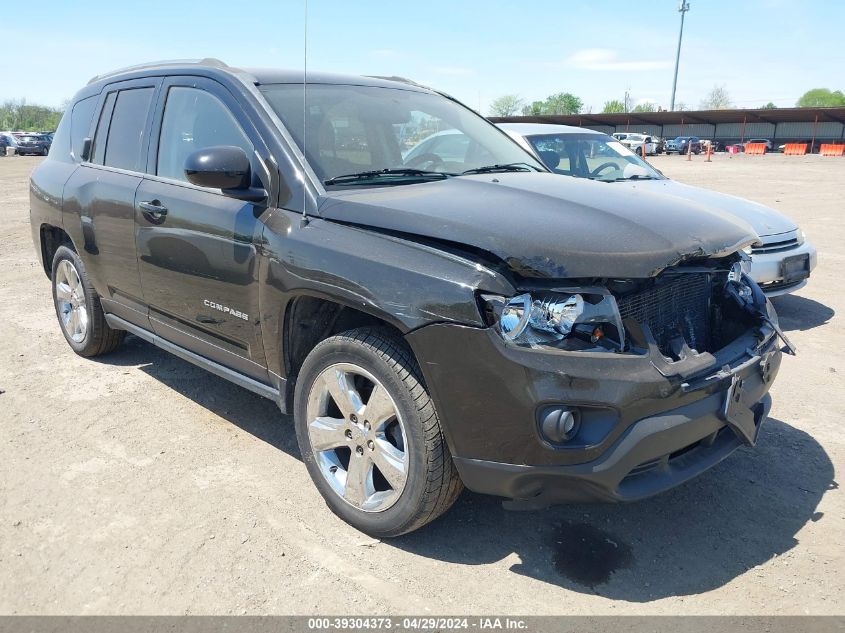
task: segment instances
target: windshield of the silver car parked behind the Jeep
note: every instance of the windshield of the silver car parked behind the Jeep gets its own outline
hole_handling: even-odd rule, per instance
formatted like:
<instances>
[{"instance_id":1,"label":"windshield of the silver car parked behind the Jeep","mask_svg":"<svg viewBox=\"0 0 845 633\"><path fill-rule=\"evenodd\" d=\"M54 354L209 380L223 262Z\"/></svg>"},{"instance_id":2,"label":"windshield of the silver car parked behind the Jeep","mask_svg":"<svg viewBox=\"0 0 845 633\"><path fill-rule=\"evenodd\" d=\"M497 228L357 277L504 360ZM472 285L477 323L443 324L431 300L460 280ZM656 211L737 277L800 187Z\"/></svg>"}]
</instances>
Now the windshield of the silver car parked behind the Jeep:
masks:
<instances>
[{"instance_id":1,"label":"windshield of the silver car parked behind the Jeep","mask_svg":"<svg viewBox=\"0 0 845 633\"><path fill-rule=\"evenodd\" d=\"M556 174L607 182L663 178L622 143L604 134L541 134L527 139Z\"/></svg>"}]
</instances>

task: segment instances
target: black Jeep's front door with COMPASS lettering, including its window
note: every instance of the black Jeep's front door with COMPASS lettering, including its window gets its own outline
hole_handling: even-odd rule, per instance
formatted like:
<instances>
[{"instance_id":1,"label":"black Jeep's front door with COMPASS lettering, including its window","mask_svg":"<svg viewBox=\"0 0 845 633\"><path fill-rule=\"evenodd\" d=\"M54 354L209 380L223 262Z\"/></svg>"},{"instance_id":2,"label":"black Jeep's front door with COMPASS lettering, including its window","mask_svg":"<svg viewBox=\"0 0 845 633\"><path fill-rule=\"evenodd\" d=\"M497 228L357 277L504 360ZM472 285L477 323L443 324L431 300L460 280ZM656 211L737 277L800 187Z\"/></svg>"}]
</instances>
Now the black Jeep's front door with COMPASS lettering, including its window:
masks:
<instances>
[{"instance_id":1,"label":"black Jeep's front door with COMPASS lettering, including its window","mask_svg":"<svg viewBox=\"0 0 845 633\"><path fill-rule=\"evenodd\" d=\"M196 150L241 147L269 191L267 151L238 102L206 78L165 80L148 174L135 196L138 261L154 331L243 374L267 379L258 309L257 244L264 203L198 187L184 163Z\"/></svg>"}]
</instances>

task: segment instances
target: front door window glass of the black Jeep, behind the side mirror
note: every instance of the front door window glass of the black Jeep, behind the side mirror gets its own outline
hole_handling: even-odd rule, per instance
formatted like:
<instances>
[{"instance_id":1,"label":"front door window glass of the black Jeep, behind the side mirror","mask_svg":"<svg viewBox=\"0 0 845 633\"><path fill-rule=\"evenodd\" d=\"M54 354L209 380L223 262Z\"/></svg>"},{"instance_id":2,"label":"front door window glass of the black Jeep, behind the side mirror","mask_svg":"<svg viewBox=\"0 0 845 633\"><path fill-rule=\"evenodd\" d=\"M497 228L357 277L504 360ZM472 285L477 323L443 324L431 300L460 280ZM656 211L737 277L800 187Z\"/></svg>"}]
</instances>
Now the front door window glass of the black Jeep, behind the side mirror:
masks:
<instances>
[{"instance_id":1,"label":"front door window glass of the black Jeep, behind the side mirror","mask_svg":"<svg viewBox=\"0 0 845 633\"><path fill-rule=\"evenodd\" d=\"M253 155L252 144L222 101L197 88L171 88L161 122L156 173L187 180L188 154L213 145L234 145L250 158Z\"/></svg>"}]
</instances>

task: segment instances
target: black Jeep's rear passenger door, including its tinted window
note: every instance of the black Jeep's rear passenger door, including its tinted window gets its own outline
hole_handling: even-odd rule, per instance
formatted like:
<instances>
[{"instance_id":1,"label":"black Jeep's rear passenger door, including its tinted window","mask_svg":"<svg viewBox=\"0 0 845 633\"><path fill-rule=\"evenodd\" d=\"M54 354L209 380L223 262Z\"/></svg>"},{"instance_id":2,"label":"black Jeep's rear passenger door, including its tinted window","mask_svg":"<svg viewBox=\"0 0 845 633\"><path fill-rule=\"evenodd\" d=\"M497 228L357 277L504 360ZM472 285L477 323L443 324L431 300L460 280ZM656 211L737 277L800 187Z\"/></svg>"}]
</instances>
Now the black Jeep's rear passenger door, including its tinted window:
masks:
<instances>
[{"instance_id":1,"label":"black Jeep's rear passenger door, including its tinted window","mask_svg":"<svg viewBox=\"0 0 845 633\"><path fill-rule=\"evenodd\" d=\"M145 328L150 323L135 253L135 190L143 180L160 84L152 77L103 91L91 155L65 185L63 202L66 213L79 214L77 246L104 309Z\"/></svg>"}]
</instances>

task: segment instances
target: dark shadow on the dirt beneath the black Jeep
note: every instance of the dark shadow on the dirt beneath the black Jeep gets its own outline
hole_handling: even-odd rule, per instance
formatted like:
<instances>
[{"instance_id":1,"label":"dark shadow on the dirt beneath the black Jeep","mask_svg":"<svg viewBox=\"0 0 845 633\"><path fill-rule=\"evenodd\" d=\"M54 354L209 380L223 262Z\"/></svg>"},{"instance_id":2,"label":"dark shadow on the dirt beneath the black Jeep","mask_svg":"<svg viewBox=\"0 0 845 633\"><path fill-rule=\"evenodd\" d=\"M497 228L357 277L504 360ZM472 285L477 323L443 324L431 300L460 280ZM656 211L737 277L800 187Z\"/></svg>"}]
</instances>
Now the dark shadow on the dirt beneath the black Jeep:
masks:
<instances>
[{"instance_id":1,"label":"dark shadow on the dirt beneath the black Jeep","mask_svg":"<svg viewBox=\"0 0 845 633\"><path fill-rule=\"evenodd\" d=\"M289 416L275 403L135 337L102 358L149 376L258 439L300 458ZM462 565L516 554L515 574L615 600L649 602L710 591L797 543L838 487L825 450L807 433L769 419L758 445L701 477L624 505L569 505L511 512L465 491L443 517L389 547ZM314 494L318 494L316 490Z\"/></svg>"}]
</instances>

